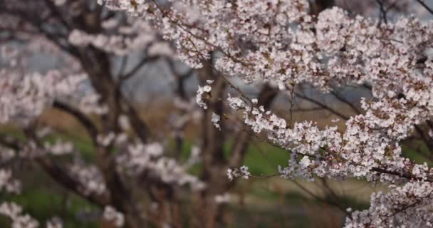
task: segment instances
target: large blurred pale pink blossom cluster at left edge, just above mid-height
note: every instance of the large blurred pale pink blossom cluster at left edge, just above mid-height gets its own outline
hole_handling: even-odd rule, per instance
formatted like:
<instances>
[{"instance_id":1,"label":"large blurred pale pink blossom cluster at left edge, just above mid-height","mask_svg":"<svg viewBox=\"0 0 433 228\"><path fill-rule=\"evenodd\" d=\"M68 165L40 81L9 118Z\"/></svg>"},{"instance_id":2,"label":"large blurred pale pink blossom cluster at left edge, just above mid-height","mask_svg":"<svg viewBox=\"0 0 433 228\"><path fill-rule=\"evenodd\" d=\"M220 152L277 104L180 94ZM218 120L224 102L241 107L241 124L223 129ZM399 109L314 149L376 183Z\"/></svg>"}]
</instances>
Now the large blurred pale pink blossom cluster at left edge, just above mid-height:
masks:
<instances>
[{"instance_id":1,"label":"large blurred pale pink blossom cluster at left edge, just above mid-height","mask_svg":"<svg viewBox=\"0 0 433 228\"><path fill-rule=\"evenodd\" d=\"M32 118L41 115L54 98L75 92L85 76L63 76L59 71L22 75L18 71L1 69L0 78L0 123L28 124Z\"/></svg>"}]
</instances>

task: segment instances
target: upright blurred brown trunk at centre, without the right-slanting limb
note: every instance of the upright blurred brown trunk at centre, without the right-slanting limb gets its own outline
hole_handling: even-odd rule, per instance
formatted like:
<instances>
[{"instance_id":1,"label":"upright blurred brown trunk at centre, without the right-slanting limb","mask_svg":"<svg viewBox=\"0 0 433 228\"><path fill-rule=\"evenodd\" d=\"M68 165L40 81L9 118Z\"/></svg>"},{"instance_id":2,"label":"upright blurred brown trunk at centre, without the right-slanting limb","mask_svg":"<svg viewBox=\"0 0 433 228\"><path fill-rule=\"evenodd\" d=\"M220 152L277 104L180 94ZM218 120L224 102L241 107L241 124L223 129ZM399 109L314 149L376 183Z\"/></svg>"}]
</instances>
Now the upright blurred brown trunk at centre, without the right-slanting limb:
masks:
<instances>
[{"instance_id":1,"label":"upright blurred brown trunk at centre, without the right-slanting limb","mask_svg":"<svg viewBox=\"0 0 433 228\"><path fill-rule=\"evenodd\" d=\"M202 227L217 227L221 224L221 207L216 204L216 195L226 190L226 157L224 157L224 120L221 118L221 130L212 123L212 113L222 116L224 103L215 98L224 97L226 82L212 68L212 60L199 70L199 81L202 85L213 80L212 97L207 100L208 108L203 110L202 118L202 181L207 183L205 190L199 195L199 220Z\"/></svg>"}]
</instances>

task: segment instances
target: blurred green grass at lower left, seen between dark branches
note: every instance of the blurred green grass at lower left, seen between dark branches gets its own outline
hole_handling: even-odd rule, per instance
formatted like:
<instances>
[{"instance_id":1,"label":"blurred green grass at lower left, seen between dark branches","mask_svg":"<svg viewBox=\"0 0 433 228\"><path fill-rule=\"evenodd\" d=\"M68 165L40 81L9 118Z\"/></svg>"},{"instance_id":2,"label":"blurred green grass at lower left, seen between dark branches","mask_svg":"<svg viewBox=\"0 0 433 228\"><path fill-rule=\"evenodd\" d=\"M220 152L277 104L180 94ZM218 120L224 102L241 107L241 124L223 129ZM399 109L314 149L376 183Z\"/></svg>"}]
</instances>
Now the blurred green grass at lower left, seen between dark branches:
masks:
<instances>
[{"instance_id":1,"label":"blurred green grass at lower left, seen between dark branches","mask_svg":"<svg viewBox=\"0 0 433 228\"><path fill-rule=\"evenodd\" d=\"M4 125L0 128L0 134L26 140L22 131L17 130L13 125ZM61 139L73 143L76 149L81 152L84 160L88 162L94 160L94 150L90 140L86 138L74 137L66 134L48 135L43 139L44 142L55 142ZM24 179L24 192L19 195L3 194L0 195L0 202L16 202L24 208L24 214L31 214L36 218L40 227L45 227L45 223L53 216L61 217L66 228L95 228L98 227L96 222L83 221L78 215L84 210L98 212L92 204L85 199L58 189L41 170L31 168L31 172L24 169L19 172L20 179ZM67 194L67 195L66 195ZM0 217L0 227L11 227L9 219Z\"/></svg>"}]
</instances>

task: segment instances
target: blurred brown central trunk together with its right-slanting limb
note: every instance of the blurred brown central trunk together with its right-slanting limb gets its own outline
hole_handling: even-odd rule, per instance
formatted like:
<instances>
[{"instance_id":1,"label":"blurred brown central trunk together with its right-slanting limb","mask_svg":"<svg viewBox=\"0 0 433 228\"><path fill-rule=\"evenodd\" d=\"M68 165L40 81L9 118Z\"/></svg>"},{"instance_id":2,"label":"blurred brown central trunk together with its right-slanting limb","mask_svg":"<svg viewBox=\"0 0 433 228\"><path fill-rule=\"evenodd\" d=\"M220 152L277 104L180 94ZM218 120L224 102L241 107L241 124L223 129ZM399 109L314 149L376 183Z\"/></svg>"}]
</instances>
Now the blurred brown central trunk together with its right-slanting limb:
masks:
<instances>
[{"instance_id":1,"label":"blurred brown central trunk together with its right-slanting limb","mask_svg":"<svg viewBox=\"0 0 433 228\"><path fill-rule=\"evenodd\" d=\"M251 141L251 133L239 130L234 136L234 145L231 151L225 154L224 145L227 138L224 134L226 125L224 124L224 103L222 100L214 98L224 98L227 84L224 78L216 73L211 63L204 64L204 68L199 70L199 80L202 85L207 80L214 80L212 83L212 97L207 100L208 108L203 110L202 119L202 175L201 178L207 183L205 190L199 195L199 222L202 227L214 228L225 227L224 221L224 203L215 201L217 195L228 192L234 187L236 180L230 181L226 176L229 167L239 167L242 165L244 155ZM278 94L277 88L272 88L265 84L259 93L259 105L269 108L273 99ZM220 127L216 128L212 123L212 113L221 116Z\"/></svg>"}]
</instances>

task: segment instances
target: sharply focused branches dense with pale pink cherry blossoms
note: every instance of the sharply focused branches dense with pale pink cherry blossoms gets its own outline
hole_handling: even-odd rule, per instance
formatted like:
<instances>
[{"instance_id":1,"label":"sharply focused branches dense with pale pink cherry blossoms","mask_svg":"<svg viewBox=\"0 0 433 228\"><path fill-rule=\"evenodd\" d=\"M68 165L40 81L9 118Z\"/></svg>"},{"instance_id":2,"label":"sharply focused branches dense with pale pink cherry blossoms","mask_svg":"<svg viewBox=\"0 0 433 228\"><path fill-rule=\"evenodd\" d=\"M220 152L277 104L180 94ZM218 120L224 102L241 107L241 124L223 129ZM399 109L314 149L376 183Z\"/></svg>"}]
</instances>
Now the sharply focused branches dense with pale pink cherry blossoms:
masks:
<instances>
[{"instance_id":1,"label":"sharply focused branches dense with pale pink cherry blossoms","mask_svg":"<svg viewBox=\"0 0 433 228\"><path fill-rule=\"evenodd\" d=\"M224 99L254 133L290 152L288 166L278 167L283 178L356 177L389 185L388 193L372 195L370 209L351 213L346 227L432 226L432 169L403 157L401 147L432 115L431 23L414 16L379 21L339 8L315 16L302 0L100 3L150 21L176 43L184 63L212 68L229 84L238 76L245 83L268 81L283 93L301 83L323 93L371 88L372 98L361 100L362 113L344 129L278 117L235 86L238 94L228 98L209 96L212 85L199 88L197 103L207 108ZM254 174L231 167L227 175Z\"/></svg>"}]
</instances>

